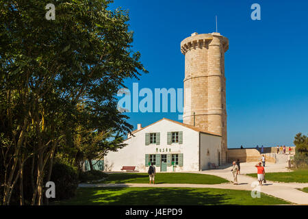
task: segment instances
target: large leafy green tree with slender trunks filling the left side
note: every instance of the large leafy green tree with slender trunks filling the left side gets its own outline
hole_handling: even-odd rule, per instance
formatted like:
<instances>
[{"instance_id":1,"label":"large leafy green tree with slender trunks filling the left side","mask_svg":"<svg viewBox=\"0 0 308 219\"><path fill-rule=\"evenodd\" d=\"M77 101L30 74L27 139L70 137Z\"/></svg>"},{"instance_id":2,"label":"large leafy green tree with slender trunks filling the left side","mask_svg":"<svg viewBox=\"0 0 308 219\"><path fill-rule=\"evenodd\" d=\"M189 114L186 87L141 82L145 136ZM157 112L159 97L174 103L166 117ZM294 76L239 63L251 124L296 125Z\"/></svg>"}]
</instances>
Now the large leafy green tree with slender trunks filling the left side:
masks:
<instances>
[{"instance_id":1,"label":"large leafy green tree with slender trunks filling the left side","mask_svg":"<svg viewBox=\"0 0 308 219\"><path fill-rule=\"evenodd\" d=\"M42 205L47 163L84 121L90 121L88 130L129 132L127 116L116 110L115 94L124 79L146 73L140 53L131 49L128 12L108 10L112 1L57 1L53 21L45 18L47 3L0 5L4 205L10 204L18 180L23 185L29 157L35 159L37 176L31 203ZM87 109L79 110L80 105Z\"/></svg>"}]
</instances>

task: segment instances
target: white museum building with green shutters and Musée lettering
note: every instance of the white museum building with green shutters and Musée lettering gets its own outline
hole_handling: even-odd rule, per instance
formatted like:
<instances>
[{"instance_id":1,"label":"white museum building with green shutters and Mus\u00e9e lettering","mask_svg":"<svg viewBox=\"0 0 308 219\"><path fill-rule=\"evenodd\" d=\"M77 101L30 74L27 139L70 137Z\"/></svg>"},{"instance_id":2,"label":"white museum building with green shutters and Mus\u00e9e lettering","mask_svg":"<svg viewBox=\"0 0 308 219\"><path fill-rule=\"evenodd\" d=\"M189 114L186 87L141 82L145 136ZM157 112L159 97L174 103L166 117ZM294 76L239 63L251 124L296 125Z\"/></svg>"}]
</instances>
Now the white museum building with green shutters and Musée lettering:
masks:
<instances>
[{"instance_id":1,"label":"white museum building with green shutters and Mus\u00e9e lettering","mask_svg":"<svg viewBox=\"0 0 308 219\"><path fill-rule=\"evenodd\" d=\"M168 118L144 128L138 124L124 143L123 149L104 157L105 170L136 166L146 172L152 162L156 172L199 171L209 168L209 163L220 165L221 136Z\"/></svg>"}]
</instances>

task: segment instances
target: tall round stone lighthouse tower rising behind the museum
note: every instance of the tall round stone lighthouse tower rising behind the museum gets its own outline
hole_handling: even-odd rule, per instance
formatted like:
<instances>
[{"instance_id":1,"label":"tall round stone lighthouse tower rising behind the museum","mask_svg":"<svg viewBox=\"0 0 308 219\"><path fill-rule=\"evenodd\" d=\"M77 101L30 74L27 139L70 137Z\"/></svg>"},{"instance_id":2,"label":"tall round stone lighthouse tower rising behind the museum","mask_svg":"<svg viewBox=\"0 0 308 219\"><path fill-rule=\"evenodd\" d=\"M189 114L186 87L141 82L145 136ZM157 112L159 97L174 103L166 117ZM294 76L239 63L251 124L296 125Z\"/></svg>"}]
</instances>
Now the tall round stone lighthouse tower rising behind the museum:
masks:
<instances>
[{"instance_id":1,"label":"tall round stone lighthouse tower rising behind the museum","mask_svg":"<svg viewBox=\"0 0 308 219\"><path fill-rule=\"evenodd\" d=\"M227 162L224 53L229 40L219 33L197 34L181 42L185 55L183 123L222 136L220 164Z\"/></svg>"}]
</instances>

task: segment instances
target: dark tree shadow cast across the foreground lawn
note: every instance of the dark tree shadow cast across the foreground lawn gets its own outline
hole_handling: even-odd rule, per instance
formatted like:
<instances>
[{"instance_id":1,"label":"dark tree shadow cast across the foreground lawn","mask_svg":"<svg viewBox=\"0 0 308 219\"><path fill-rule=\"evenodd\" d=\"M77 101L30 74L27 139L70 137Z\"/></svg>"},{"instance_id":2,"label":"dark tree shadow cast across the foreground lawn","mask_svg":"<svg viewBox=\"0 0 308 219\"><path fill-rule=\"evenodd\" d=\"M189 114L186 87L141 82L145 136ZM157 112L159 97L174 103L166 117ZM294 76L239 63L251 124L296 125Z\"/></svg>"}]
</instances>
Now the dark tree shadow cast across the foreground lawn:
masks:
<instances>
[{"instance_id":1,"label":"dark tree shadow cast across the foreground lawn","mask_svg":"<svg viewBox=\"0 0 308 219\"><path fill-rule=\"evenodd\" d=\"M190 188L79 188L78 198L62 205L227 205L224 194ZM59 203L58 203L59 204Z\"/></svg>"}]
</instances>

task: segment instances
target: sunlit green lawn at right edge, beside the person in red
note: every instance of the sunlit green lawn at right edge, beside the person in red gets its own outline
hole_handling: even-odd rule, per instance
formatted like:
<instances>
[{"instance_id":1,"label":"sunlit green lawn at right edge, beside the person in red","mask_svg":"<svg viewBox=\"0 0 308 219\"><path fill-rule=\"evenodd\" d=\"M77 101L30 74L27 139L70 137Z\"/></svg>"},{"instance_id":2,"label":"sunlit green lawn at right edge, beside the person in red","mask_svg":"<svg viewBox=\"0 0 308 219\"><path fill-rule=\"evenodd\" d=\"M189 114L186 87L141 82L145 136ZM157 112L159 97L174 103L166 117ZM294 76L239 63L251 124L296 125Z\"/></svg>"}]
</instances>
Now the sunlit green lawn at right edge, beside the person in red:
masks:
<instances>
[{"instance_id":1,"label":"sunlit green lawn at right edge, beside the person in red","mask_svg":"<svg viewBox=\"0 0 308 219\"><path fill-rule=\"evenodd\" d=\"M284 183L308 183L308 168L292 169L293 172L268 172L266 179ZM257 174L248 174L248 176L257 178Z\"/></svg>"}]
</instances>

